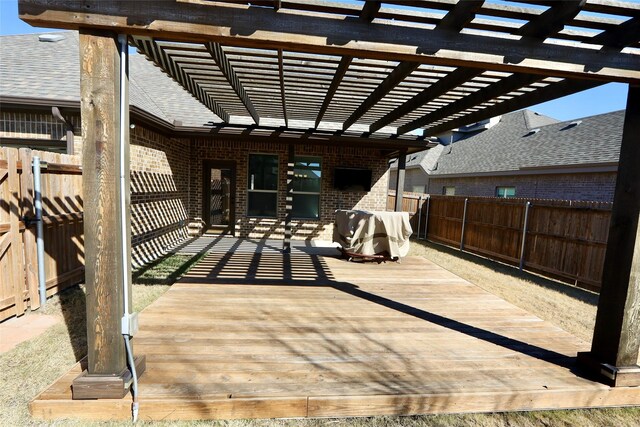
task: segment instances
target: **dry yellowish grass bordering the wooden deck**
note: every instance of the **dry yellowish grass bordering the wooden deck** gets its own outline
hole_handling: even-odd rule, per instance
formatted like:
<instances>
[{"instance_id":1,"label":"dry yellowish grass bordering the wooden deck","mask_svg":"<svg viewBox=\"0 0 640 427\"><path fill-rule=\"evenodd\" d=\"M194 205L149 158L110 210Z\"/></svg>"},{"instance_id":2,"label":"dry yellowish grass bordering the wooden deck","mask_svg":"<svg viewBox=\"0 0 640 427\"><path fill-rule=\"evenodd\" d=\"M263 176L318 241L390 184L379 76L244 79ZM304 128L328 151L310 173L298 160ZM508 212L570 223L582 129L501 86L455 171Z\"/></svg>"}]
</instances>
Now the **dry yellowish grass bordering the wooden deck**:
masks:
<instances>
[{"instance_id":1,"label":"dry yellowish grass bordering the wooden deck","mask_svg":"<svg viewBox=\"0 0 640 427\"><path fill-rule=\"evenodd\" d=\"M478 286L490 288L492 292L498 294L503 292L509 295L512 299L519 301L518 303L514 302L516 305L524 304L529 309L538 307L532 301L538 299L539 291L546 290L551 294L544 297L545 301L563 298L563 304L568 304L568 307L573 307L571 304L575 304L578 309L582 305L593 306L593 295L583 294L582 291L576 293L575 289L570 289L566 285L538 276L534 277L527 273L520 273L511 267L472 255L459 256L460 254L456 251L438 245L424 244L421 241L414 242L412 250L414 254L425 255ZM202 255L173 255L136 271L133 286L134 309L141 311L155 301L169 289L171 283L188 271L201 257ZM507 288L507 290L505 291L503 288ZM532 291L536 293L532 294ZM547 304L545 302L542 306L551 310ZM86 354L84 287L76 286L51 298L43 312L60 316L63 321L47 330L45 334L0 355L0 380L2 381L0 426L48 425L31 419L28 413L28 403ZM39 314L34 312L28 315L37 316ZM558 316L555 316L551 321L558 322ZM575 320L574 323L576 323ZM582 330L579 322L577 323L578 326L574 325L574 328ZM640 408L342 419L140 422L139 424L189 427L635 427L640 426ZM60 420L50 423L50 425L127 426L131 423L88 423L86 421Z\"/></svg>"}]
</instances>

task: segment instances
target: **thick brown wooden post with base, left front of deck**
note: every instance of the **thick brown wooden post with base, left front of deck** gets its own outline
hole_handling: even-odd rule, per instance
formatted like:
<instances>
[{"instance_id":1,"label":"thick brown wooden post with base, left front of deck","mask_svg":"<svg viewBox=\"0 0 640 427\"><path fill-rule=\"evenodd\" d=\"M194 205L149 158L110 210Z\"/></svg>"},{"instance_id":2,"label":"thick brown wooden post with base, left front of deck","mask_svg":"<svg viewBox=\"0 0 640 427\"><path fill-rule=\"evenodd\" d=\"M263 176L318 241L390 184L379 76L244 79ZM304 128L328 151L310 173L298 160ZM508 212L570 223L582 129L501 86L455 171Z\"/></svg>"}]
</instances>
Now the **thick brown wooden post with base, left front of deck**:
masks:
<instances>
[{"instance_id":1,"label":"thick brown wooden post with base, left front of deck","mask_svg":"<svg viewBox=\"0 0 640 427\"><path fill-rule=\"evenodd\" d=\"M74 399L122 398L131 377L121 329L123 278L124 271L129 271L122 248L126 259L131 259L129 239L122 242L118 212L121 156L127 165L125 191L129 190L128 145L124 152L119 148L121 67L126 64L121 63L115 34L80 31L88 367L73 382ZM124 85L126 97L128 76ZM128 201L127 194L127 211Z\"/></svg>"}]
</instances>

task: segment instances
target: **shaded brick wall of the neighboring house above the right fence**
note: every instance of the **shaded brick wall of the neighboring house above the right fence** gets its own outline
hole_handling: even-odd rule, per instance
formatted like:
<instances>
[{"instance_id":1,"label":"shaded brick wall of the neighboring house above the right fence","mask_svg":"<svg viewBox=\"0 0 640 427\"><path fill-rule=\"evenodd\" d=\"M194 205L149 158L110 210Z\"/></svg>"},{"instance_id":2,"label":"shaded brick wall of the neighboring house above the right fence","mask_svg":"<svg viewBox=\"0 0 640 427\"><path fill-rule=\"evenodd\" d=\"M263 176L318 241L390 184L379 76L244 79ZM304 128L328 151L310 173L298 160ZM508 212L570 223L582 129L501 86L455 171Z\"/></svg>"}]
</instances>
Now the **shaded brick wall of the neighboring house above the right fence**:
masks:
<instances>
[{"instance_id":1,"label":"shaded brick wall of the neighboring house above the right fence","mask_svg":"<svg viewBox=\"0 0 640 427\"><path fill-rule=\"evenodd\" d=\"M456 196L494 197L497 186L515 187L516 197L612 202L616 173L579 173L429 179L428 192L455 186Z\"/></svg>"}]
</instances>

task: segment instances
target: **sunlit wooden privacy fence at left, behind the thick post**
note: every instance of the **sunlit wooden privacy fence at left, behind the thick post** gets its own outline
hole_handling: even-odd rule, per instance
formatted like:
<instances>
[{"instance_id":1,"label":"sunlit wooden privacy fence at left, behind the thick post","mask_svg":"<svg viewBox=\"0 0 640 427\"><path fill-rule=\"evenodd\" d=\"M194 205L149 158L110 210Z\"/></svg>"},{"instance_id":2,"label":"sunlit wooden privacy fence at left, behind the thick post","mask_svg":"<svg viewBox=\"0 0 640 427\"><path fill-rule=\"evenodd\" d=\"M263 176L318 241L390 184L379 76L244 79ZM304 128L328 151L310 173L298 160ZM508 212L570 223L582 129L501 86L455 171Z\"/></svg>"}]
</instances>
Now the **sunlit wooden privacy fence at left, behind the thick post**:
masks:
<instances>
[{"instance_id":1,"label":"sunlit wooden privacy fence at left, behind the thick post","mask_svg":"<svg viewBox=\"0 0 640 427\"><path fill-rule=\"evenodd\" d=\"M80 157L0 147L0 321L40 306L34 156L43 162L47 296L84 278Z\"/></svg>"}]
</instances>

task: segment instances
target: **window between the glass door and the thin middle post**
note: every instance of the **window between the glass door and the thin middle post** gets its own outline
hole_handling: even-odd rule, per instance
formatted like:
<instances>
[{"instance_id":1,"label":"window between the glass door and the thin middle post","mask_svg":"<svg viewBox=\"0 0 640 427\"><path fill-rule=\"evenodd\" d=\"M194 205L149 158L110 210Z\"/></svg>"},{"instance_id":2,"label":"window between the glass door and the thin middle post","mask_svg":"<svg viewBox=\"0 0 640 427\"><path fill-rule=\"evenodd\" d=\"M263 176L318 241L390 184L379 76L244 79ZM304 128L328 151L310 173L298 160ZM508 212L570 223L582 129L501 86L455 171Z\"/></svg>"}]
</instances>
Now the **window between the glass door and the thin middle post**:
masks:
<instances>
[{"instance_id":1,"label":"window between the glass door and the thin middle post","mask_svg":"<svg viewBox=\"0 0 640 427\"><path fill-rule=\"evenodd\" d=\"M275 218L278 214L278 156L249 154L247 216Z\"/></svg>"}]
</instances>

